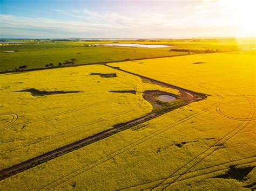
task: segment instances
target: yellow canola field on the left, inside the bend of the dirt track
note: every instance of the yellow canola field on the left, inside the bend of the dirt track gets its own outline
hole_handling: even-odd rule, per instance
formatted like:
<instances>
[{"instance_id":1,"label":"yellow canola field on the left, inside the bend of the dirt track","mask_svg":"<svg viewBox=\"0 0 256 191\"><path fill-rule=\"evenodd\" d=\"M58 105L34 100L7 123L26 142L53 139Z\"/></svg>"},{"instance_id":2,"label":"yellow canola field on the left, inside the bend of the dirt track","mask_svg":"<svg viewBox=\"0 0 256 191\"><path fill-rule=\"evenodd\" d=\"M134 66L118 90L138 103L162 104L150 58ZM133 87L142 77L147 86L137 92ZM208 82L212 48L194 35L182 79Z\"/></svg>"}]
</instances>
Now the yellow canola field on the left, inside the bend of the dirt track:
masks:
<instances>
[{"instance_id":1,"label":"yellow canola field on the left, inside the bend of the dirt track","mask_svg":"<svg viewBox=\"0 0 256 191\"><path fill-rule=\"evenodd\" d=\"M178 93L103 65L6 74L0 76L0 84L1 169L144 116L152 110L142 98L145 90ZM80 92L44 96L17 92L31 88ZM137 93L109 92L118 90Z\"/></svg>"}]
</instances>

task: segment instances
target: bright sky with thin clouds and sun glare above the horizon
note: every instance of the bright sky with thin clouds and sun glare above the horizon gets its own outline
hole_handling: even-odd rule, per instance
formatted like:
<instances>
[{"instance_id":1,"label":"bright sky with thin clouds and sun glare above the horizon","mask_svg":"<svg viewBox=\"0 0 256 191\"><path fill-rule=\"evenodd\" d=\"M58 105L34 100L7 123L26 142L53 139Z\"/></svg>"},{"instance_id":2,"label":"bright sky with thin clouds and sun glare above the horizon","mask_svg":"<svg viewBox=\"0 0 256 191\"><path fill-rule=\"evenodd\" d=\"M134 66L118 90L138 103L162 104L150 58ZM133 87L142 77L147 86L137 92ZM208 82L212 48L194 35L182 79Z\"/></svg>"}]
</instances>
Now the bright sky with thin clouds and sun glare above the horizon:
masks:
<instances>
[{"instance_id":1,"label":"bright sky with thin clouds and sun glare above the horizon","mask_svg":"<svg viewBox=\"0 0 256 191\"><path fill-rule=\"evenodd\" d=\"M0 0L0 38L255 37L255 0Z\"/></svg>"}]
</instances>

